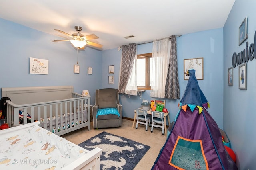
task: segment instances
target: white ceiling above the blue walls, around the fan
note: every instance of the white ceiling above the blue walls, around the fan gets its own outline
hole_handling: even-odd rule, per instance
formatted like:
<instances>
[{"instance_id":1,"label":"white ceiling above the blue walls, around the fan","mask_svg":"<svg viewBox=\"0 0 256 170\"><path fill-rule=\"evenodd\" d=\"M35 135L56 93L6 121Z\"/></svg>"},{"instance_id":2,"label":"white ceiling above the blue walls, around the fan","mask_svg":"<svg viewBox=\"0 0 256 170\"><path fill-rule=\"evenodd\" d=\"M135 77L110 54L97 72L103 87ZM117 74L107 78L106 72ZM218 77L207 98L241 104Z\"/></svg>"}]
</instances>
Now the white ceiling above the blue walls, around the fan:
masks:
<instances>
[{"instance_id":1,"label":"white ceiling above the blue walls, around the fan","mask_svg":"<svg viewBox=\"0 0 256 170\"><path fill-rule=\"evenodd\" d=\"M56 35L96 34L103 50L224 26L235 0L1 0L0 18ZM124 37L135 37L125 39ZM52 39L51 39L52 40ZM50 43L50 39L49 39Z\"/></svg>"}]
</instances>

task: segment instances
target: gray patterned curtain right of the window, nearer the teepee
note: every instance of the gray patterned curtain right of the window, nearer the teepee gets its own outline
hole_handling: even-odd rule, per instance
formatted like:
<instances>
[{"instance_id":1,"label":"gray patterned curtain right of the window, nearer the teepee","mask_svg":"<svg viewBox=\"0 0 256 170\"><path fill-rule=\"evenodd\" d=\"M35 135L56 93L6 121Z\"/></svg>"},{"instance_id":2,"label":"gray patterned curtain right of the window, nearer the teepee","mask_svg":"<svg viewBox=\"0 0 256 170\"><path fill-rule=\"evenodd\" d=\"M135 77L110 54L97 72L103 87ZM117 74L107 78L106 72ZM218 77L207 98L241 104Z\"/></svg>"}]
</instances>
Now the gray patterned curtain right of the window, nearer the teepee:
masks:
<instances>
[{"instance_id":1,"label":"gray patterned curtain right of the window, nearer the teepee","mask_svg":"<svg viewBox=\"0 0 256 170\"><path fill-rule=\"evenodd\" d=\"M168 74L165 84L165 98L168 99L179 99L180 98L180 86L178 80L178 64L177 64L177 44L176 36L170 37L171 41L171 52Z\"/></svg>"}]
</instances>

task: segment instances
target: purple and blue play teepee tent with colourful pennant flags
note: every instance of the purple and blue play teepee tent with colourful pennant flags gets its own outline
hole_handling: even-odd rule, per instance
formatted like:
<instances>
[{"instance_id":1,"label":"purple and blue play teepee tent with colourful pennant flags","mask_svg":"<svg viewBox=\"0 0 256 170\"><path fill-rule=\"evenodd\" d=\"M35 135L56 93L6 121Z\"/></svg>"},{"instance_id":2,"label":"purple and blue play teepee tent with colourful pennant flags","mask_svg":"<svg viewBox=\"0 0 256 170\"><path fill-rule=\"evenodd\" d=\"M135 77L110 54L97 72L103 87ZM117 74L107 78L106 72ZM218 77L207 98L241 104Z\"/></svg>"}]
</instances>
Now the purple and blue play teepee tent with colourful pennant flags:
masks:
<instances>
[{"instance_id":1,"label":"purple and blue play teepee tent with colourful pennant flags","mask_svg":"<svg viewBox=\"0 0 256 170\"><path fill-rule=\"evenodd\" d=\"M206 109L195 70L189 80L172 130L152 170L238 170L228 155L217 123Z\"/></svg>"}]
</instances>

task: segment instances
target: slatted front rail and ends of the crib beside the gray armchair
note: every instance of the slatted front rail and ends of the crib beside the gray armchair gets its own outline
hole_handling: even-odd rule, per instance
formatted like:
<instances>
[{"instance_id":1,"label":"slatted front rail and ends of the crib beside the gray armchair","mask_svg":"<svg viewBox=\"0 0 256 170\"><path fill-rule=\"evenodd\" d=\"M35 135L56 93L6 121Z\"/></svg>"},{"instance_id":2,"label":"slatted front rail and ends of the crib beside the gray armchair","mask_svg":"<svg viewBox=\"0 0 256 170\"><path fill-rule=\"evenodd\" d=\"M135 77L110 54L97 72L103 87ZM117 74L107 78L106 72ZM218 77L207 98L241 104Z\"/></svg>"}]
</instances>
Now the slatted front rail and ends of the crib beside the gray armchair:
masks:
<instances>
[{"instance_id":1,"label":"slatted front rail and ends of the crib beside the gray armchair","mask_svg":"<svg viewBox=\"0 0 256 170\"><path fill-rule=\"evenodd\" d=\"M6 123L10 127L22 125L19 118L19 112L22 110L24 113L23 124L28 123L26 114L28 113L31 116L31 122L40 121L41 127L51 132L54 131L54 124L55 130L60 126L60 129L55 131L56 135L63 135L86 126L90 130L90 96L82 96L72 92L71 99L22 105L14 104L10 100L6 101L6 103ZM87 119L83 115L84 111L87 111ZM60 122L58 122L58 116L60 117ZM53 119L53 117L56 119ZM48 122L46 121L47 119L49 120ZM72 121L73 126L71 125Z\"/></svg>"}]
</instances>

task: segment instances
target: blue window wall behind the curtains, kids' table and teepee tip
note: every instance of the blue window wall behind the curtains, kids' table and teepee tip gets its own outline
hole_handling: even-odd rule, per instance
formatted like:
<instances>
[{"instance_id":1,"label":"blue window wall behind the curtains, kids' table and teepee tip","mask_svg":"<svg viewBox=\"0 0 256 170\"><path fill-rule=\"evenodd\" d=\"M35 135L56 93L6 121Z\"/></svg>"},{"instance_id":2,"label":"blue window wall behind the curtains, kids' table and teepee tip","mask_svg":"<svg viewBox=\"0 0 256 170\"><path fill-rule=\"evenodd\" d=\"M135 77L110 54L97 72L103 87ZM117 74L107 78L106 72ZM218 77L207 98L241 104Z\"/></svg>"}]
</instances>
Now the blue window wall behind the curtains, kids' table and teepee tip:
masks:
<instances>
[{"instance_id":1,"label":"blue window wall behind the curtains, kids' table and teepee tip","mask_svg":"<svg viewBox=\"0 0 256 170\"><path fill-rule=\"evenodd\" d=\"M138 54L152 53L153 43L138 45ZM102 87L118 88L118 76L122 52L117 49L103 51L102 53ZM222 128L223 122L223 29L212 29L177 37L178 76L180 83L180 98L186 88L188 80L184 80L184 59L204 58L204 80L198 80L200 88L210 103L209 112ZM108 85L108 65L115 65L115 84ZM214 89L214 92L213 92ZM142 92L142 99L154 100L150 97L150 90ZM140 96L121 95L124 117L133 118L134 109L141 106ZM174 121L178 112L180 100L166 100L166 108L170 111L170 121Z\"/></svg>"}]
</instances>

